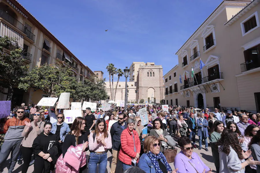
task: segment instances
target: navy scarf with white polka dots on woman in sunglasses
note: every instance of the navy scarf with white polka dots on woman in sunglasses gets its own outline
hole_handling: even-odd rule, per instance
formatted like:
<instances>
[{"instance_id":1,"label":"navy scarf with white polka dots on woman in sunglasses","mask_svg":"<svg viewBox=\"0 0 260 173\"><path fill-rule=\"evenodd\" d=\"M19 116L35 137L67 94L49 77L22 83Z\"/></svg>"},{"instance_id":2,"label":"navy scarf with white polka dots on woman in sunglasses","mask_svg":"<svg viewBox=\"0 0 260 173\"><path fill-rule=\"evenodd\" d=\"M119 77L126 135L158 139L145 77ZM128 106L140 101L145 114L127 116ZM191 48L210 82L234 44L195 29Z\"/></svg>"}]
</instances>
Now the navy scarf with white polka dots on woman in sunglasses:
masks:
<instances>
[{"instance_id":1,"label":"navy scarf with white polka dots on woman in sunglasses","mask_svg":"<svg viewBox=\"0 0 260 173\"><path fill-rule=\"evenodd\" d=\"M158 155L155 155L155 154L153 154L151 151L149 151L149 152L147 153L147 155L148 155L148 157L151 159L151 161L152 161L152 163L153 163L153 166L154 166L154 168L155 168L156 173L163 173L163 172L161 171L161 168L160 168L159 163L158 163L158 161L157 161L157 160L159 160L159 159L162 159L162 160L163 160L163 163L164 163L164 165L165 165L165 167L166 167L166 169L167 169L167 172L168 172L168 171L172 171L172 168L170 167L169 163L166 161L166 158L164 157L164 155L163 155L161 152L160 152Z\"/></svg>"}]
</instances>

